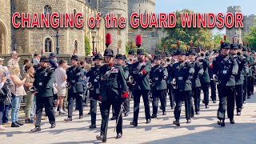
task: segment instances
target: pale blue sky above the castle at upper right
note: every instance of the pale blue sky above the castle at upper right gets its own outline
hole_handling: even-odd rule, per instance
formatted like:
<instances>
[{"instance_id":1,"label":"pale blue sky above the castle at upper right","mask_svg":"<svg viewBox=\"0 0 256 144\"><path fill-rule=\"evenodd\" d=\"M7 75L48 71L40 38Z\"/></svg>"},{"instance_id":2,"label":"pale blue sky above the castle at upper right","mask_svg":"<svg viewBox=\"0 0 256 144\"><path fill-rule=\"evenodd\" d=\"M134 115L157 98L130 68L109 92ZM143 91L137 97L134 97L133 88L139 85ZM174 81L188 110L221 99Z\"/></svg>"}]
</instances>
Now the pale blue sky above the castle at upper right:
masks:
<instances>
[{"instance_id":1,"label":"pale blue sky above the castle at upper right","mask_svg":"<svg viewBox=\"0 0 256 144\"><path fill-rule=\"evenodd\" d=\"M156 13L170 13L189 9L199 13L226 13L229 6L241 6L242 14L256 14L255 0L155 0ZM225 29L214 29L214 33L225 33Z\"/></svg>"}]
</instances>

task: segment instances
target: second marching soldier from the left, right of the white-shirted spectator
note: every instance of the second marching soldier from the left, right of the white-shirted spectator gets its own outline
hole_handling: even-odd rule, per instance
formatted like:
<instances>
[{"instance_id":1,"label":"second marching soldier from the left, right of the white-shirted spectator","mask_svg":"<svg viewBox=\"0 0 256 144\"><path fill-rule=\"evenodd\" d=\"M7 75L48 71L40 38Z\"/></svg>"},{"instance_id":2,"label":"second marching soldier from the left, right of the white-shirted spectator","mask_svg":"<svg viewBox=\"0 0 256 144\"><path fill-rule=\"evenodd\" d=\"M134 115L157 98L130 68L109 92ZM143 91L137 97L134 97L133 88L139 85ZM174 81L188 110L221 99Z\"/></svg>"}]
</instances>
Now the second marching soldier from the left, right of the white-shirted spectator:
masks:
<instances>
[{"instance_id":1,"label":"second marching soldier from the left, right of the white-shirted spectator","mask_svg":"<svg viewBox=\"0 0 256 144\"><path fill-rule=\"evenodd\" d=\"M68 84L68 118L64 119L66 122L72 121L74 98L76 102L78 102L79 119L83 118L82 97L85 86L83 86L82 81L84 78L84 71L78 66L77 55L72 55L71 64L72 66L66 70L66 82Z\"/></svg>"}]
</instances>

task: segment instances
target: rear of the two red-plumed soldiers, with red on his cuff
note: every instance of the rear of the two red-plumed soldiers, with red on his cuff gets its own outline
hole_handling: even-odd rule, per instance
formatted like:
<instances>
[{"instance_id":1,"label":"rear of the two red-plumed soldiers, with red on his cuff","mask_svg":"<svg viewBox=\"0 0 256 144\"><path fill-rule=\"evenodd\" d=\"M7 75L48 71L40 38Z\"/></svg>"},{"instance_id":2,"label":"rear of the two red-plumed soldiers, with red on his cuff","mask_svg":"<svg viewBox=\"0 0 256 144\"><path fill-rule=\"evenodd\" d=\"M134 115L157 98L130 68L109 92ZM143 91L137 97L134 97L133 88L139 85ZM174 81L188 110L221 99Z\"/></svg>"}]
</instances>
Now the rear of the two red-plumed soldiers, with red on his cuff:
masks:
<instances>
[{"instance_id":1,"label":"rear of the two red-plumed soldiers, with red on his cuff","mask_svg":"<svg viewBox=\"0 0 256 144\"><path fill-rule=\"evenodd\" d=\"M143 50L137 50L138 62L133 64L132 77L134 78L134 119L130 125L138 126L139 103L141 96L145 106L146 123L151 122L150 118L150 62L145 62Z\"/></svg>"}]
</instances>

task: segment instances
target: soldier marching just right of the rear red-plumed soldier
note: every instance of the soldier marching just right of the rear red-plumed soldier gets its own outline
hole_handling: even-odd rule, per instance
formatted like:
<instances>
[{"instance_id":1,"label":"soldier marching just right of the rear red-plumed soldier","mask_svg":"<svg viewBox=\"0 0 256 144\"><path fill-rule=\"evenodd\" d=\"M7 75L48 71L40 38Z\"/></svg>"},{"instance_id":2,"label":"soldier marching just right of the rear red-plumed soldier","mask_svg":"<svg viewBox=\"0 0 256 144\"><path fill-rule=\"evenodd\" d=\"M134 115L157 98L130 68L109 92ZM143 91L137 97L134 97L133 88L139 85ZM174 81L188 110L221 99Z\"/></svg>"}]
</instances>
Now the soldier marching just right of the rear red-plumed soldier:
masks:
<instances>
[{"instance_id":1,"label":"soldier marching just right of the rear red-plumed soldier","mask_svg":"<svg viewBox=\"0 0 256 144\"><path fill-rule=\"evenodd\" d=\"M152 91L152 106L153 114L151 118L158 117L158 99L161 102L162 115L166 115L166 95L168 72L165 67L161 65L161 57L159 54L154 56L154 66L150 71L151 91Z\"/></svg>"}]
</instances>

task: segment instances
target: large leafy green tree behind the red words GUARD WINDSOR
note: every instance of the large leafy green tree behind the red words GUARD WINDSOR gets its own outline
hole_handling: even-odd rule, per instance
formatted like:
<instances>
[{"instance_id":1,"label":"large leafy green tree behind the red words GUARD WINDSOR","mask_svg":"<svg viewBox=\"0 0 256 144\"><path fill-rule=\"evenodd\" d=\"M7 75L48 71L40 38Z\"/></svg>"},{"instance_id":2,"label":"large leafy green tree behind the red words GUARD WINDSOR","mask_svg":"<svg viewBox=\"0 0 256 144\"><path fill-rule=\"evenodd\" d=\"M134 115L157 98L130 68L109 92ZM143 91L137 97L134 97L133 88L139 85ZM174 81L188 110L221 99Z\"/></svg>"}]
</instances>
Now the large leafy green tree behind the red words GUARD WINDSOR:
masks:
<instances>
[{"instance_id":1,"label":"large leafy green tree behind the red words GUARD WINDSOR","mask_svg":"<svg viewBox=\"0 0 256 144\"><path fill-rule=\"evenodd\" d=\"M173 50L173 46L177 46L177 42L180 42L179 47L187 49L190 47L190 42L193 42L193 46L203 46L210 48L212 45L212 33L210 29L206 28L194 28L194 27L182 27L182 20L180 18L181 13L193 13L191 10L182 10L174 12L177 17L177 24L173 29L165 29L167 34L166 38L162 38L162 46L166 45L166 48L170 51ZM193 22L192 22L193 23Z\"/></svg>"}]
</instances>

